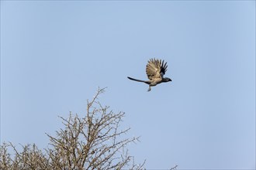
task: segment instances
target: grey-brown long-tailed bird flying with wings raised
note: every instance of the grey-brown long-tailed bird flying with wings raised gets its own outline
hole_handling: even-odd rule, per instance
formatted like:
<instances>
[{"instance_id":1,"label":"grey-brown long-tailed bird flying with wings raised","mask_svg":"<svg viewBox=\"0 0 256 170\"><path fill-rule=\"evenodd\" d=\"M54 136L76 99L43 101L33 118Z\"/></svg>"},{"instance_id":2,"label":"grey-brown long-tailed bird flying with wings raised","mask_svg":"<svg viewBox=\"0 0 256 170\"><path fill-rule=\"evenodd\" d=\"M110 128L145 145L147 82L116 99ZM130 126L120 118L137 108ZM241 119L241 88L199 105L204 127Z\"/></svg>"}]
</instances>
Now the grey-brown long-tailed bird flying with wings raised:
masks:
<instances>
[{"instance_id":1,"label":"grey-brown long-tailed bird flying with wings raised","mask_svg":"<svg viewBox=\"0 0 256 170\"><path fill-rule=\"evenodd\" d=\"M146 73L147 73L147 78L149 80L138 80L134 79L130 76L127 76L128 79L133 80L133 81L138 81L142 83L147 83L149 85L149 88L147 91L151 90L151 87L157 86L159 83L166 83L171 81L170 78L164 77L164 74L167 71L167 62L164 63L164 59L149 59L147 61L147 66L146 66Z\"/></svg>"}]
</instances>

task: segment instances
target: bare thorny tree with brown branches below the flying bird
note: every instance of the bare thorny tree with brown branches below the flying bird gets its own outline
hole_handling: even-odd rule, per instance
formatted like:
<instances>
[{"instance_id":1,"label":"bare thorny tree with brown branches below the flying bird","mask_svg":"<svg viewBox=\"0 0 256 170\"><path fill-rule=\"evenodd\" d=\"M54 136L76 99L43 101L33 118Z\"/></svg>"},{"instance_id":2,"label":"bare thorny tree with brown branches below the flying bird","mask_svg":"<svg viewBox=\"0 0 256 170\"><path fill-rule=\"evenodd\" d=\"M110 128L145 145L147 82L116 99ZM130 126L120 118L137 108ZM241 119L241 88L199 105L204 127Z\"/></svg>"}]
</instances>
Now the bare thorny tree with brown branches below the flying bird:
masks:
<instances>
[{"instance_id":1,"label":"bare thorny tree with brown branches below the flying bird","mask_svg":"<svg viewBox=\"0 0 256 170\"><path fill-rule=\"evenodd\" d=\"M126 138L130 130L119 130L124 112L115 114L109 107L99 103L99 89L92 101L88 101L83 117L69 114L61 117L64 128L56 135L47 134L49 147L41 151L36 145L22 146L17 151L12 143L0 147L1 169L143 169L144 163L136 165L126 146L138 138ZM8 148L12 148L14 156Z\"/></svg>"}]
</instances>

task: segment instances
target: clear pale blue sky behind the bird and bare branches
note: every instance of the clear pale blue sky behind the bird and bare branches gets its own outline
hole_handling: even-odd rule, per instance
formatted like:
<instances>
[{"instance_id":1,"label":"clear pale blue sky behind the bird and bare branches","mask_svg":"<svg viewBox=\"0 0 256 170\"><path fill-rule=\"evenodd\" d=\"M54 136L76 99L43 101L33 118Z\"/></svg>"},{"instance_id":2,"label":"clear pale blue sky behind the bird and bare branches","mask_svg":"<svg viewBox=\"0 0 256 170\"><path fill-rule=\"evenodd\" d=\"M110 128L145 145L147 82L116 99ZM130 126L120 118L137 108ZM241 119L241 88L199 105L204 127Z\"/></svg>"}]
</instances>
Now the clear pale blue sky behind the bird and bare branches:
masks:
<instances>
[{"instance_id":1,"label":"clear pale blue sky behind the bird and bare branches","mask_svg":"<svg viewBox=\"0 0 256 170\"><path fill-rule=\"evenodd\" d=\"M1 143L47 147L98 87L146 168L255 168L255 2L1 1Z\"/></svg>"}]
</instances>

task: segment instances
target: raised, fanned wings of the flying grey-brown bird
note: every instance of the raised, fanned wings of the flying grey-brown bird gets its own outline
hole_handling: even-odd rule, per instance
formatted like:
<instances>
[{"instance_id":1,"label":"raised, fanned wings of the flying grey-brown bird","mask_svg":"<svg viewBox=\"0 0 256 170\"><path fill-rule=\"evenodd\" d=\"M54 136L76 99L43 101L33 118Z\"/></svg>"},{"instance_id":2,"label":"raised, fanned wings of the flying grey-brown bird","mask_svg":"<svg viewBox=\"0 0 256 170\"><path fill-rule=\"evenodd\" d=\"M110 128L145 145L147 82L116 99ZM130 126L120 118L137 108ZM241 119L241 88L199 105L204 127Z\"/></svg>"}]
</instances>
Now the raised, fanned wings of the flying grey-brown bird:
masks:
<instances>
[{"instance_id":1,"label":"raised, fanned wings of the flying grey-brown bird","mask_svg":"<svg viewBox=\"0 0 256 170\"><path fill-rule=\"evenodd\" d=\"M146 73L149 80L154 80L156 78L163 78L165 72L167 71L167 63L161 59L150 59L146 66Z\"/></svg>"}]
</instances>

